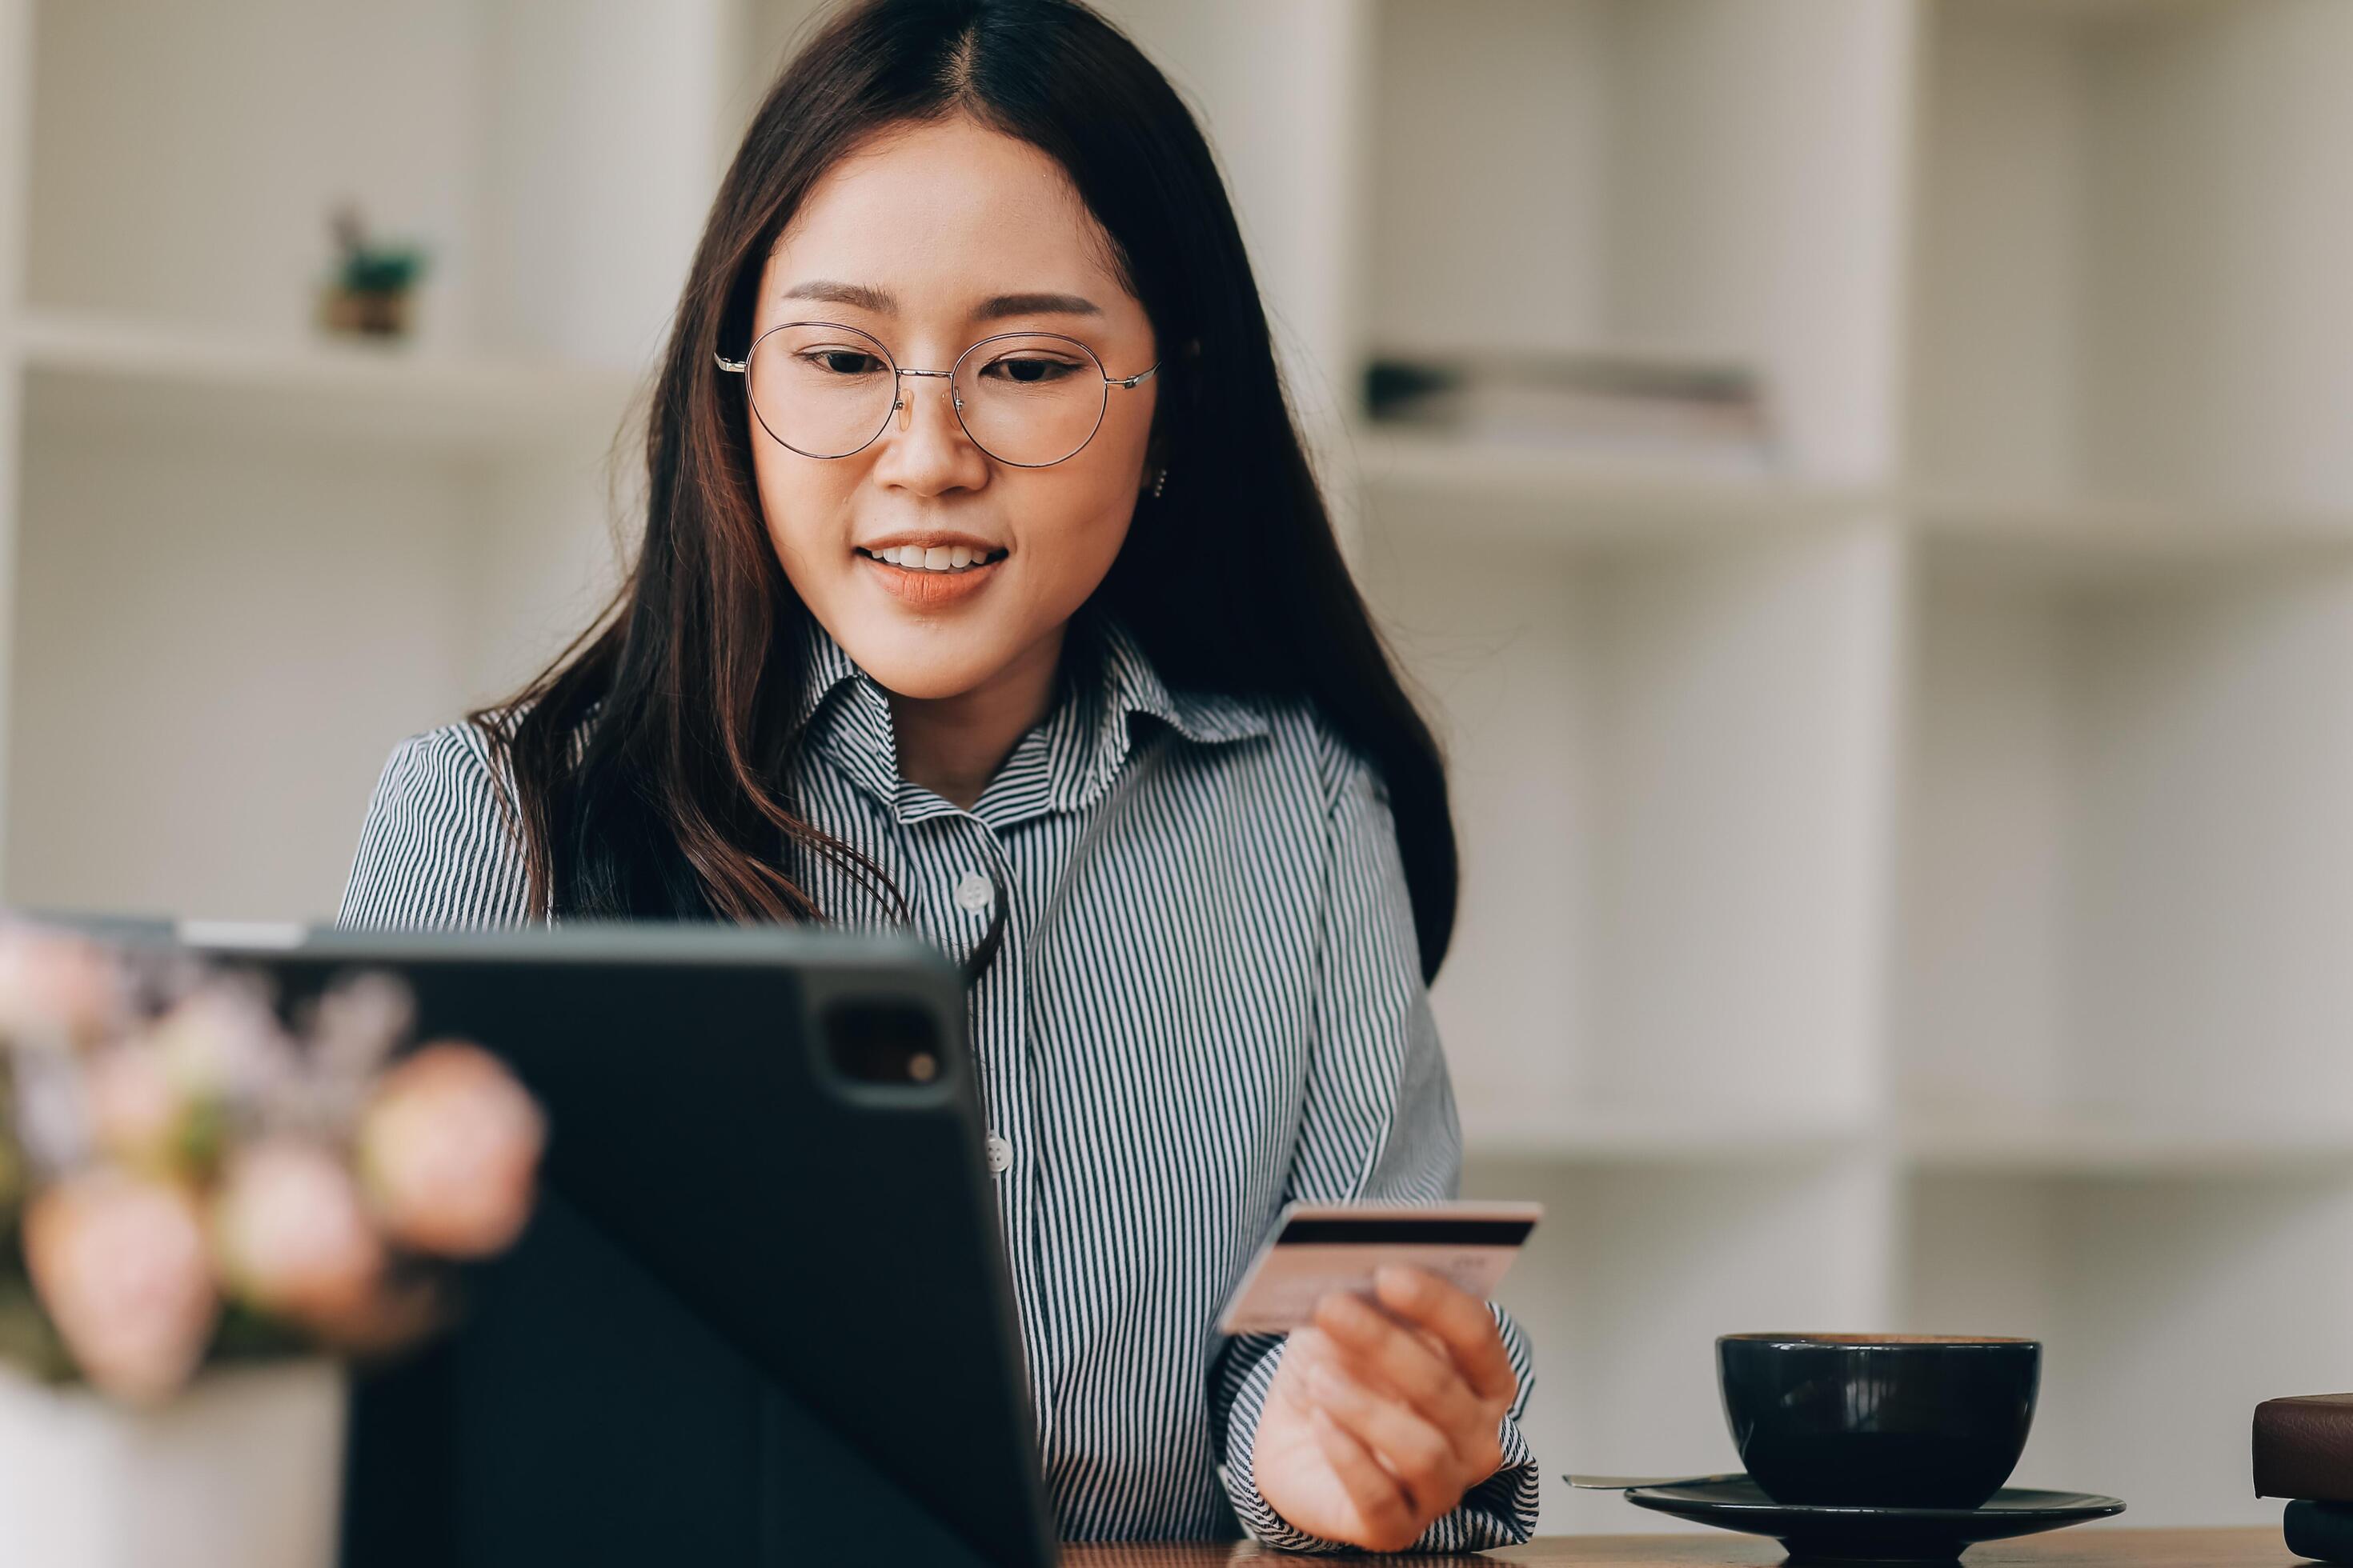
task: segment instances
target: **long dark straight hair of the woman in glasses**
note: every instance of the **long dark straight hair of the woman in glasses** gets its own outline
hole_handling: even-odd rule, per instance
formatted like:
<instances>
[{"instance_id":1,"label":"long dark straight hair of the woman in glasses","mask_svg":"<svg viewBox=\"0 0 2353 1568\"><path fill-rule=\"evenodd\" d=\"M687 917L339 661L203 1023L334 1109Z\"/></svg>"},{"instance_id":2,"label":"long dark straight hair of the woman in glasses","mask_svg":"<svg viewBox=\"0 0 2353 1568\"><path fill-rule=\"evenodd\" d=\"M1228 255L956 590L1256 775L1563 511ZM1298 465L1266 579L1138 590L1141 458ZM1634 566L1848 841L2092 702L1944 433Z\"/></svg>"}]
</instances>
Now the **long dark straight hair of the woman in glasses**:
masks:
<instances>
[{"instance_id":1,"label":"long dark straight hair of the woman in glasses","mask_svg":"<svg viewBox=\"0 0 2353 1568\"><path fill-rule=\"evenodd\" d=\"M713 353L744 350L767 254L816 179L885 127L951 115L1061 162L1169 364L1151 447L1174 477L1136 503L1099 599L1169 686L1306 696L1372 759L1433 978L1457 891L1445 764L1348 578L1209 146L1075 0L852 5L753 115L652 383L635 564L539 677L468 715L511 766L532 910L824 919L781 867L791 839L906 912L781 795L809 611L762 524L741 386Z\"/></svg>"}]
</instances>

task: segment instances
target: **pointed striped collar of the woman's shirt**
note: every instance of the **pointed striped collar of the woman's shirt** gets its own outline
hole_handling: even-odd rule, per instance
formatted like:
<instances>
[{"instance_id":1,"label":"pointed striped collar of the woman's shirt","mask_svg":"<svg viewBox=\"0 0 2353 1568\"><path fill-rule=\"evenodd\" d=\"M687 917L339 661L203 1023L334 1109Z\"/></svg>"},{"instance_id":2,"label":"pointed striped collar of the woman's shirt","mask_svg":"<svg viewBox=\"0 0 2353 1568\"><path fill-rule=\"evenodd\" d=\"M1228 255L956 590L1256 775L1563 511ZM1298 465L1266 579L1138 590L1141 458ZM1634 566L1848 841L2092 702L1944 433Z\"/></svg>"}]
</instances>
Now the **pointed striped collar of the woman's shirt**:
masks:
<instances>
[{"instance_id":1,"label":"pointed striped collar of the woman's shirt","mask_svg":"<svg viewBox=\"0 0 2353 1568\"><path fill-rule=\"evenodd\" d=\"M899 776L889 696L816 616L802 614L800 654L793 717L802 743L838 762L899 820L953 813L955 806ZM988 780L974 816L1005 825L1040 809L1080 811L1094 804L1134 752L1134 715L1148 715L1195 745L1268 733L1266 712L1249 698L1172 691L1134 632L1089 602L1066 630L1054 705Z\"/></svg>"}]
</instances>

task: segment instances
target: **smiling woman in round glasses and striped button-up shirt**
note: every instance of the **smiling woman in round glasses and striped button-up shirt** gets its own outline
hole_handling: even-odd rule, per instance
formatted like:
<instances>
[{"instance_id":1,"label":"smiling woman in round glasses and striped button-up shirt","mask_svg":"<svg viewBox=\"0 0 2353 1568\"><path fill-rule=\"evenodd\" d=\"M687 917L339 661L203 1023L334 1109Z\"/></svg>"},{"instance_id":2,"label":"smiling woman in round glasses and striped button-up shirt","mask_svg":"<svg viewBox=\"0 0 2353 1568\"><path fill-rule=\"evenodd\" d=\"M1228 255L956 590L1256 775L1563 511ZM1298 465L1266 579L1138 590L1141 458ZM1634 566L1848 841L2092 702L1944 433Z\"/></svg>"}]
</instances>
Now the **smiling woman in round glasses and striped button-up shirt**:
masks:
<instances>
[{"instance_id":1,"label":"smiling woman in round glasses and striped button-up shirt","mask_svg":"<svg viewBox=\"0 0 2353 1568\"><path fill-rule=\"evenodd\" d=\"M1501 1309L1393 1272L1212 1331L1282 1201L1457 1187L1454 837L1160 73L1068 0L838 14L711 209L647 461L612 609L393 752L341 922L922 931L1061 1533L1525 1540Z\"/></svg>"}]
</instances>

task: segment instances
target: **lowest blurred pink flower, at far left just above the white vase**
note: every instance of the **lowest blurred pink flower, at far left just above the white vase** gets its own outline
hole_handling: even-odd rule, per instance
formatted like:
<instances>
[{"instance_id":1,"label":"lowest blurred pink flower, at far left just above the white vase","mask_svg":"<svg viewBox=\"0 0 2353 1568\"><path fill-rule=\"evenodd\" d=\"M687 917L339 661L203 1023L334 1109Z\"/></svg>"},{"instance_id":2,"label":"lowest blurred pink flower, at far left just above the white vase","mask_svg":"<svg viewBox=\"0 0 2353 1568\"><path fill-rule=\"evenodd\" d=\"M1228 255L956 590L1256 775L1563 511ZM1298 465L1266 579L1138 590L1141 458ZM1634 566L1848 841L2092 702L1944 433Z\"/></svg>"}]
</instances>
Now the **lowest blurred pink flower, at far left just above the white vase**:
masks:
<instances>
[{"instance_id":1,"label":"lowest blurred pink flower, at far left just above the white vase","mask_svg":"<svg viewBox=\"0 0 2353 1568\"><path fill-rule=\"evenodd\" d=\"M101 1168L40 1192L24 1211L24 1260L99 1389L162 1399L202 1359L221 1300L195 1199L176 1182Z\"/></svg>"}]
</instances>

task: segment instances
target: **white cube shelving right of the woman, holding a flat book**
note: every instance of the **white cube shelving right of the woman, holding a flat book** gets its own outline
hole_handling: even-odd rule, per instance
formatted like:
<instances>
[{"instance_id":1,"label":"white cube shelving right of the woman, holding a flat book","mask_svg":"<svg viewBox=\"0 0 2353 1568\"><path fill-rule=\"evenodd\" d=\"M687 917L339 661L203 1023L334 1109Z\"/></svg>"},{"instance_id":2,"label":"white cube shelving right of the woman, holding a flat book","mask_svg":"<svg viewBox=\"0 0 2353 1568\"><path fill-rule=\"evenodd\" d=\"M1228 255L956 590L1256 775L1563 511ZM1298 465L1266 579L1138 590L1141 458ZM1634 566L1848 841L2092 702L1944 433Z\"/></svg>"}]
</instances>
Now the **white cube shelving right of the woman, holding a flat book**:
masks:
<instances>
[{"instance_id":1,"label":"white cube shelving right of the woman, holding a flat book","mask_svg":"<svg viewBox=\"0 0 2353 1568\"><path fill-rule=\"evenodd\" d=\"M1744 357L1791 451L1355 442L1546 1469L1727 1465L1715 1333L2033 1333L2021 1483L2275 1519L2247 1413L2353 1382L2353 7L1372 14L1358 355Z\"/></svg>"}]
</instances>

